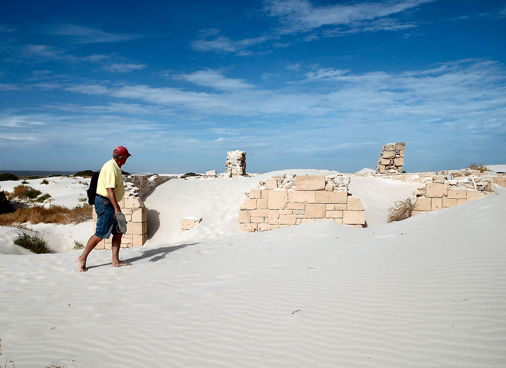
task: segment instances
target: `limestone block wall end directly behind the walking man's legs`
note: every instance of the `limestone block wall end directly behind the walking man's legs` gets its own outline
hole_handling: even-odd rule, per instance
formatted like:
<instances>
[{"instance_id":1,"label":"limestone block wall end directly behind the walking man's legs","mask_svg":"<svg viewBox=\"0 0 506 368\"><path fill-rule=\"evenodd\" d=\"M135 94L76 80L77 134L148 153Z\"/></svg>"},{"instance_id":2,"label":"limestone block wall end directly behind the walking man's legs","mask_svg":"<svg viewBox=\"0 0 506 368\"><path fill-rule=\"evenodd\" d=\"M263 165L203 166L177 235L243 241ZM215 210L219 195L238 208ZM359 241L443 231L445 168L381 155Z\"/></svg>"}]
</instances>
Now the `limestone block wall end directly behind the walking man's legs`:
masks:
<instances>
[{"instance_id":1,"label":"limestone block wall end directly behind the walking man's legs","mask_svg":"<svg viewBox=\"0 0 506 368\"><path fill-rule=\"evenodd\" d=\"M142 247L147 239L147 209L141 198L125 196L119 203L126 218L126 233L121 239L121 248ZM97 228L97 214L93 210L93 232ZM112 235L100 241L95 249L111 249Z\"/></svg>"}]
</instances>

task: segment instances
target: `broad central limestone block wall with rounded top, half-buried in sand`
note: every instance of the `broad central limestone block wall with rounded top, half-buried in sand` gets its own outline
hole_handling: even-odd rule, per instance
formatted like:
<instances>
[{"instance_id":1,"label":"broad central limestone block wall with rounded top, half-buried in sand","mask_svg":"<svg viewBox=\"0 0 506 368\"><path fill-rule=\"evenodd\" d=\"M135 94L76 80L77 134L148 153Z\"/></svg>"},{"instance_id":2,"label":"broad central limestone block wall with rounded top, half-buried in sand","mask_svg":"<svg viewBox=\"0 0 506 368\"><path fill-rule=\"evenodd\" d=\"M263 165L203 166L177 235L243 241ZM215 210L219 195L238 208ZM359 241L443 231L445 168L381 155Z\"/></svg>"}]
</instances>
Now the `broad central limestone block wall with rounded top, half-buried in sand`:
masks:
<instances>
[{"instance_id":1,"label":"broad central limestone block wall with rounded top, half-buried in sand","mask_svg":"<svg viewBox=\"0 0 506 368\"><path fill-rule=\"evenodd\" d=\"M348 192L349 183L346 175L284 175L265 180L246 193L239 226L255 232L327 220L364 227L364 208Z\"/></svg>"}]
</instances>

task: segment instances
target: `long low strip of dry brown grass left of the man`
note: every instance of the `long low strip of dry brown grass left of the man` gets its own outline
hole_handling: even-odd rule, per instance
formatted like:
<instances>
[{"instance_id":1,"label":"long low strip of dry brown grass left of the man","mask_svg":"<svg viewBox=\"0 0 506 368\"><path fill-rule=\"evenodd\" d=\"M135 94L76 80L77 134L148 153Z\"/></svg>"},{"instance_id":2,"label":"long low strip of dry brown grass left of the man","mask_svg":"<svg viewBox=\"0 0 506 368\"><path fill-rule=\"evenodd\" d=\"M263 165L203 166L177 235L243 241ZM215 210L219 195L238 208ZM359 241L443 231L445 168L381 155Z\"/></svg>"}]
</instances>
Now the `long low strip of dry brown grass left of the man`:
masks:
<instances>
[{"instance_id":1,"label":"long low strip of dry brown grass left of the man","mask_svg":"<svg viewBox=\"0 0 506 368\"><path fill-rule=\"evenodd\" d=\"M40 206L22 207L19 210L0 215L0 226L16 226L25 222L30 224L77 224L92 218L92 207L75 207L68 209L53 205L50 208Z\"/></svg>"}]
</instances>

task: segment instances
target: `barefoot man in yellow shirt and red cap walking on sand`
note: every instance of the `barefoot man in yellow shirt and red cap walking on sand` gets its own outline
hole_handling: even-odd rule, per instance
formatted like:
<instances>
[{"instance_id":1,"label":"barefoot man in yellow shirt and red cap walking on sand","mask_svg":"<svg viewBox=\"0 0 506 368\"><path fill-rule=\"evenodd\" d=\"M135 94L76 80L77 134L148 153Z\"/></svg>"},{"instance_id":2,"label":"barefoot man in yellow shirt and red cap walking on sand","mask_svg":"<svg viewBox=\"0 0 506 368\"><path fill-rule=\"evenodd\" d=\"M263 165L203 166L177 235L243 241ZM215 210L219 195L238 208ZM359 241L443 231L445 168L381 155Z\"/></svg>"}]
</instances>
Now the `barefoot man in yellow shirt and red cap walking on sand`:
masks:
<instances>
[{"instance_id":1,"label":"barefoot man in yellow shirt and red cap walking on sand","mask_svg":"<svg viewBox=\"0 0 506 368\"><path fill-rule=\"evenodd\" d=\"M128 149L123 146L114 148L112 159L104 163L100 170L97 183L97 196L95 197L95 212L97 213L97 229L92 235L85 250L77 258L79 271L88 271L86 268L86 259L97 244L104 238L109 238L112 233L112 267L130 266L132 263L126 263L119 260L119 247L121 246L121 236L116 230L115 214L121 212L118 202L123 199L124 184L121 173L121 166L126 159L132 156Z\"/></svg>"}]
</instances>

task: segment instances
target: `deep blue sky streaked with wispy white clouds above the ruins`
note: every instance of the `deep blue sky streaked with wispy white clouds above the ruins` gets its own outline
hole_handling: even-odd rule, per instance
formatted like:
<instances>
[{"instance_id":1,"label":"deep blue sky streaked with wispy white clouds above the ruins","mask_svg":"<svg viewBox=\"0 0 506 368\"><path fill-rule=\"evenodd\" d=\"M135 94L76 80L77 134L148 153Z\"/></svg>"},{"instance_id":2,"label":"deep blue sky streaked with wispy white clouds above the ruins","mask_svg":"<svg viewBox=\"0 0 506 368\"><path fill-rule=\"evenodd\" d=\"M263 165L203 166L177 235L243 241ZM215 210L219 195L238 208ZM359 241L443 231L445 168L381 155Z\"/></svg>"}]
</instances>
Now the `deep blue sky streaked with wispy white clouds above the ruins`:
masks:
<instances>
[{"instance_id":1,"label":"deep blue sky streaked with wispy white clouds above the ruins","mask_svg":"<svg viewBox=\"0 0 506 368\"><path fill-rule=\"evenodd\" d=\"M506 163L506 0L0 0L0 170Z\"/></svg>"}]
</instances>

